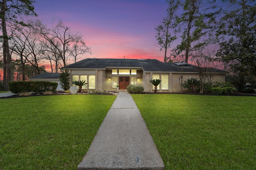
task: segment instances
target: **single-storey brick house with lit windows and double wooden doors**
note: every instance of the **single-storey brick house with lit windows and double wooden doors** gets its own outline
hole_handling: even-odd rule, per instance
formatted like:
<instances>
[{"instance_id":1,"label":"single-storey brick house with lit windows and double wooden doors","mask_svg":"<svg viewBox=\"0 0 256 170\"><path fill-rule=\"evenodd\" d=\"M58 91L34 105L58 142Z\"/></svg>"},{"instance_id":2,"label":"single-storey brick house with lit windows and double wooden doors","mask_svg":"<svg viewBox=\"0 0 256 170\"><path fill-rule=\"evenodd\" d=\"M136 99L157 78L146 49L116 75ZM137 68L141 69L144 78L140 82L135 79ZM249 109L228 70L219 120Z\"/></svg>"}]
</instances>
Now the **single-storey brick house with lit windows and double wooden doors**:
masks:
<instances>
[{"instance_id":1,"label":"single-storey brick house with lit windows and double wooden doors","mask_svg":"<svg viewBox=\"0 0 256 170\"><path fill-rule=\"evenodd\" d=\"M88 58L63 67L70 73L72 82L86 80L82 90L126 90L129 84L143 86L153 92L152 79L160 79L158 92L180 92L179 78L183 81L198 78L197 67L188 63L162 63L156 59L97 59ZM212 68L214 69L214 68ZM214 69L213 82L225 82L228 72ZM184 90L186 91L186 89Z\"/></svg>"}]
</instances>

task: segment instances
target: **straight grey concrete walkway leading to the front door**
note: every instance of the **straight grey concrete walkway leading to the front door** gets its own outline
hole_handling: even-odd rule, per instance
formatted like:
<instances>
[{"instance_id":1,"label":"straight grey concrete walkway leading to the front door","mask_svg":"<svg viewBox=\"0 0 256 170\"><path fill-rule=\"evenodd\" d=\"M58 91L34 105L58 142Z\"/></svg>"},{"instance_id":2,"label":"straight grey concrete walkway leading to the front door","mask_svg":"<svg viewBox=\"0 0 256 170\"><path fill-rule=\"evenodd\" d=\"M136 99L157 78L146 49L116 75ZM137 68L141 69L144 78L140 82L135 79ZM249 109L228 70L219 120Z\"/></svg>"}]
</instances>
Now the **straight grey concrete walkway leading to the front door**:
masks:
<instances>
[{"instance_id":1,"label":"straight grey concrete walkway leading to the front door","mask_svg":"<svg viewBox=\"0 0 256 170\"><path fill-rule=\"evenodd\" d=\"M138 107L120 92L78 170L164 170Z\"/></svg>"}]
</instances>

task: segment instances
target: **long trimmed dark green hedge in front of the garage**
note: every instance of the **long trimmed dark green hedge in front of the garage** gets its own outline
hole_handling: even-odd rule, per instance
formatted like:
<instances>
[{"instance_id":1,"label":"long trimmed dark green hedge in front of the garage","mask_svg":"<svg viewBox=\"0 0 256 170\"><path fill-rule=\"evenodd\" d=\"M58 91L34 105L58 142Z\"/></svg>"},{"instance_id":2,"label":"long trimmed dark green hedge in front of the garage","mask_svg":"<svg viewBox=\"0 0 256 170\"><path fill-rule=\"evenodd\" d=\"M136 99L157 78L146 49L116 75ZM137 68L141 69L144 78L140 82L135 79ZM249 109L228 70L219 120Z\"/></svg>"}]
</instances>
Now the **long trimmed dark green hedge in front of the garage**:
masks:
<instances>
[{"instance_id":1,"label":"long trimmed dark green hedge in front of the garage","mask_svg":"<svg viewBox=\"0 0 256 170\"><path fill-rule=\"evenodd\" d=\"M57 82L46 82L46 81L19 81L9 82L9 90L12 93L23 93L23 92L55 92L58 86Z\"/></svg>"}]
</instances>

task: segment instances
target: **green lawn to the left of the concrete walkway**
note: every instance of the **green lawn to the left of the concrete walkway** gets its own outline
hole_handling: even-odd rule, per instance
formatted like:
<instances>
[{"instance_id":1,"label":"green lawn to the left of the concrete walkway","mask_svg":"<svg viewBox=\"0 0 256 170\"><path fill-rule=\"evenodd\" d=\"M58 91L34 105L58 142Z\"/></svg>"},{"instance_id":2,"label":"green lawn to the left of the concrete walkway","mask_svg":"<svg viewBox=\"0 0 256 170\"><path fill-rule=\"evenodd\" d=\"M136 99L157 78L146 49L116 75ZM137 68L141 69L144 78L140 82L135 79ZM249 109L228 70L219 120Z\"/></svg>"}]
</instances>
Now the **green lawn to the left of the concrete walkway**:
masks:
<instances>
[{"instance_id":1,"label":"green lawn to the left of the concrete walkway","mask_svg":"<svg viewBox=\"0 0 256 170\"><path fill-rule=\"evenodd\" d=\"M76 169L116 96L0 99L0 169Z\"/></svg>"}]
</instances>

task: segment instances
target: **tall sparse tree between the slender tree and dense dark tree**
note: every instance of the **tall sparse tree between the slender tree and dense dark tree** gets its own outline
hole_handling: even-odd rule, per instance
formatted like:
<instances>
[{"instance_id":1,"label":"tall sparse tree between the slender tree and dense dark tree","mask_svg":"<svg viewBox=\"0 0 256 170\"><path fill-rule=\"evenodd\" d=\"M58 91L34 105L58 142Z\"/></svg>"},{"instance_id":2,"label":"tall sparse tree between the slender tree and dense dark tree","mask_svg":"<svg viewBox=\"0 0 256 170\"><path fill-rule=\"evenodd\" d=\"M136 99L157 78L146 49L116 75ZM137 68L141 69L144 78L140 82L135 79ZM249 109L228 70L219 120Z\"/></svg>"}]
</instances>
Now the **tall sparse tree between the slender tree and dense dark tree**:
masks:
<instances>
[{"instance_id":1,"label":"tall sparse tree between the slender tree and dense dark tree","mask_svg":"<svg viewBox=\"0 0 256 170\"><path fill-rule=\"evenodd\" d=\"M216 0L184 0L181 5L184 12L176 19L182 33L181 43L173 49L172 55L174 58L185 57L185 63L188 63L191 51L203 48L214 40L211 34L213 23L221 9L216 10ZM204 41L200 41L202 38Z\"/></svg>"}]
</instances>

